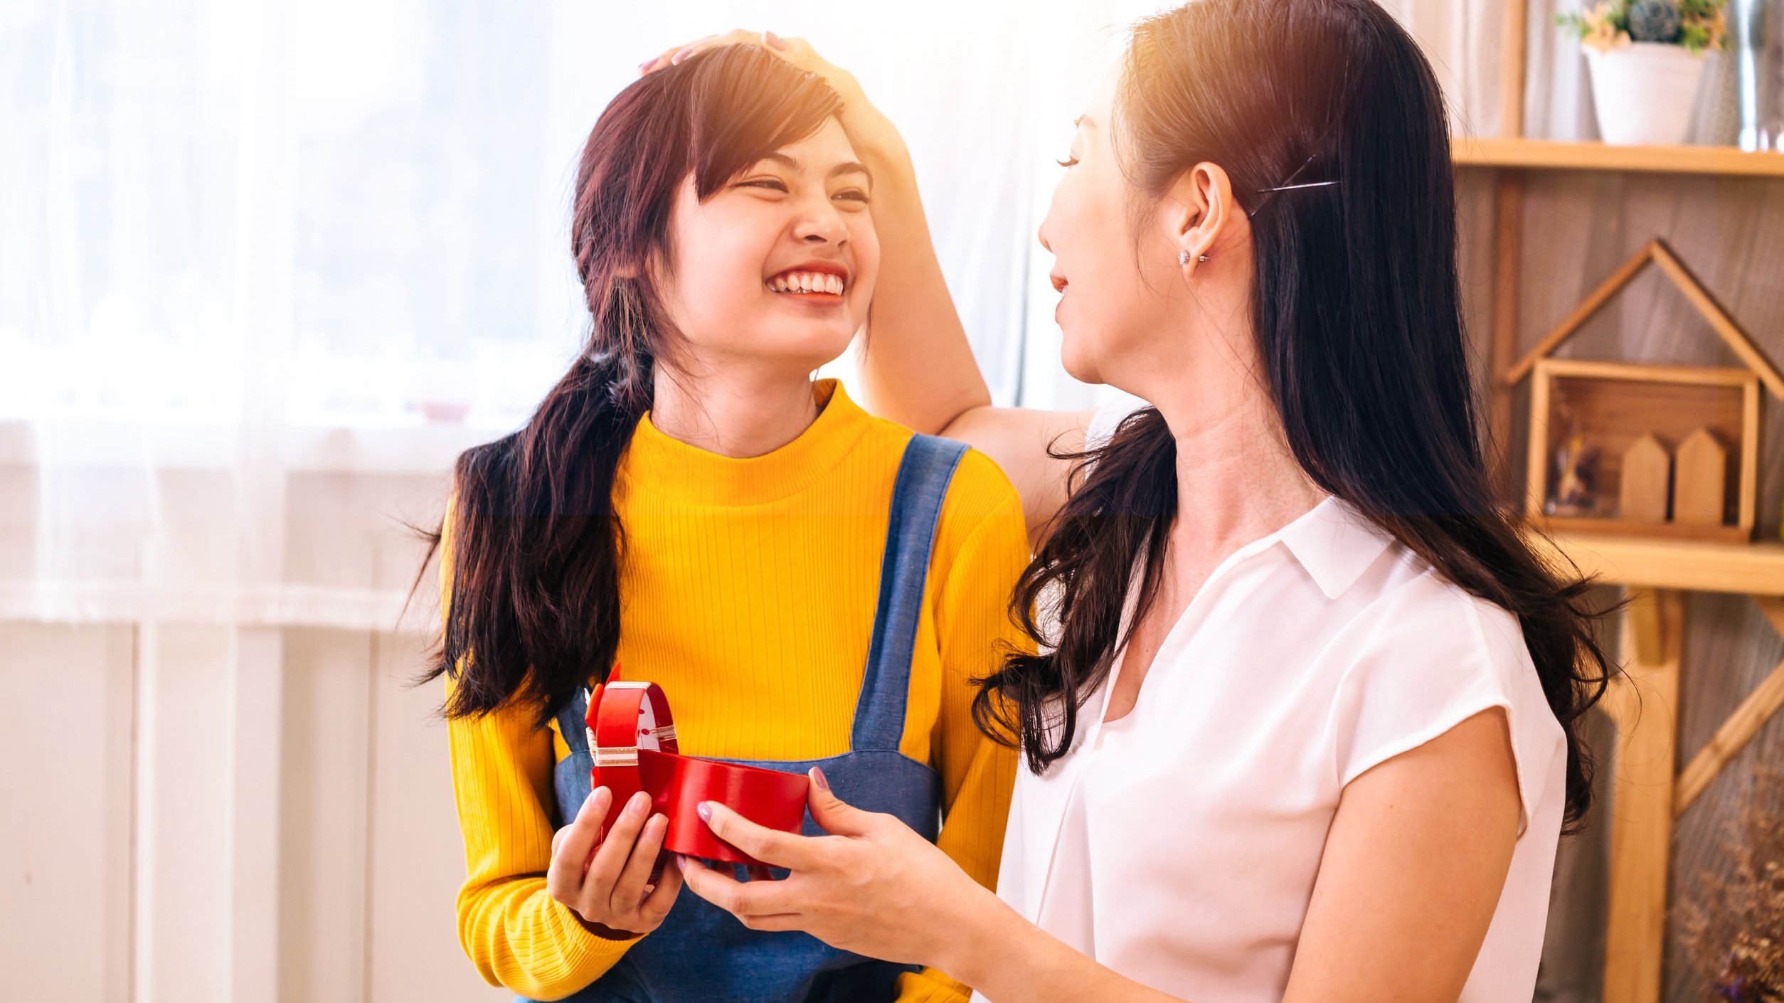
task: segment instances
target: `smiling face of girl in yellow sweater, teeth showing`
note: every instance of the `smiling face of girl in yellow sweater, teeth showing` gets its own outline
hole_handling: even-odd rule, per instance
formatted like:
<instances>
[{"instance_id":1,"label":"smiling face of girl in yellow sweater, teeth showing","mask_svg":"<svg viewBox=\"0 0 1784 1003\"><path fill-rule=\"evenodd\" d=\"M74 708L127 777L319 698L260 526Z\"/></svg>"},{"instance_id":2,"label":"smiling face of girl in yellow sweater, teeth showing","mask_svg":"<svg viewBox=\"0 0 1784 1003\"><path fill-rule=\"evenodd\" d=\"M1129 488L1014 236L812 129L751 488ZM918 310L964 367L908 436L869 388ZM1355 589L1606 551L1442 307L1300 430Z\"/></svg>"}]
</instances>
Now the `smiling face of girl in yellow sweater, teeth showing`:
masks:
<instances>
[{"instance_id":1,"label":"smiling face of girl in yellow sweater, teeth showing","mask_svg":"<svg viewBox=\"0 0 1784 1003\"><path fill-rule=\"evenodd\" d=\"M690 362L808 373L842 355L880 269L871 191L835 118L706 202L685 182L658 286Z\"/></svg>"}]
</instances>

